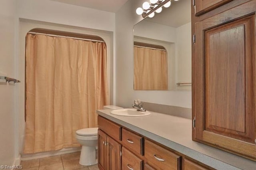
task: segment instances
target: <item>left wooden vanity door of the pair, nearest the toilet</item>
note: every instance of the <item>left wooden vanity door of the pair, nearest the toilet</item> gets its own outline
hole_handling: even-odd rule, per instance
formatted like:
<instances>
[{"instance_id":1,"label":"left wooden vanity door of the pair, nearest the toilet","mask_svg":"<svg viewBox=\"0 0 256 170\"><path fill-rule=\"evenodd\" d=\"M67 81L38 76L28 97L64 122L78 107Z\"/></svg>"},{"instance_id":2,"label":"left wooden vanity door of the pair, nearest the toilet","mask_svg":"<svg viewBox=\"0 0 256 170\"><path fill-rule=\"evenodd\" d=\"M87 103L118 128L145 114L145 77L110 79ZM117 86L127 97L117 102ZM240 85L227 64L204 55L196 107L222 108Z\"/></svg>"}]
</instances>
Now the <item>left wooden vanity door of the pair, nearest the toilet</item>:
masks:
<instances>
[{"instance_id":1,"label":"left wooden vanity door of the pair, nearest the toilet","mask_svg":"<svg viewBox=\"0 0 256 170\"><path fill-rule=\"evenodd\" d=\"M107 169L106 133L98 130L98 166L100 169Z\"/></svg>"}]
</instances>

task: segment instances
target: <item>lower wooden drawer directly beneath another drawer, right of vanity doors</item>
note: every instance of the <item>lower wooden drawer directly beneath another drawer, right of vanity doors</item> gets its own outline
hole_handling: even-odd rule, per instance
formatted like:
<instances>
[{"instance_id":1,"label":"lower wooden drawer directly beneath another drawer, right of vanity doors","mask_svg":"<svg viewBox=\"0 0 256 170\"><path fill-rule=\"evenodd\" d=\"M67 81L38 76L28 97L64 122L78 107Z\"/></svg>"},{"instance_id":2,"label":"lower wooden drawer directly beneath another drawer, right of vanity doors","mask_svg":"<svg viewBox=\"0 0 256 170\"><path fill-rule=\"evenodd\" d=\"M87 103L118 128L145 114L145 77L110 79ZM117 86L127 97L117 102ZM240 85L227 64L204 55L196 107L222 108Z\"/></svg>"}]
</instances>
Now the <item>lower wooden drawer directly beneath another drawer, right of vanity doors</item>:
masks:
<instances>
[{"instance_id":1,"label":"lower wooden drawer directly beneath another drawer, right of vanity doors","mask_svg":"<svg viewBox=\"0 0 256 170\"><path fill-rule=\"evenodd\" d=\"M122 170L142 170L143 160L122 147Z\"/></svg>"}]
</instances>

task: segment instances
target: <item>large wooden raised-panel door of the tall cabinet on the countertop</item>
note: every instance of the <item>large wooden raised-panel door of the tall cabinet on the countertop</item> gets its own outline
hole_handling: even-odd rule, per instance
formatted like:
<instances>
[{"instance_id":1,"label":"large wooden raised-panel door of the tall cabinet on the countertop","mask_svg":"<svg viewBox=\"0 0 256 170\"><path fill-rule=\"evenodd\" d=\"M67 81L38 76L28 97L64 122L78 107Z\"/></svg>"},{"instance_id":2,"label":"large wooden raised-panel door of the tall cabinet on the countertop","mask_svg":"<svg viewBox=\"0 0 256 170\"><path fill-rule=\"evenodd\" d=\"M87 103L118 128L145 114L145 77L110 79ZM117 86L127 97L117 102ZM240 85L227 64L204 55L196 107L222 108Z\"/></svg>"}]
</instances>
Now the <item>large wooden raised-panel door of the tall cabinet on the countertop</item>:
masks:
<instances>
[{"instance_id":1,"label":"large wooden raised-panel door of the tall cabinet on the countertop","mask_svg":"<svg viewBox=\"0 0 256 170\"><path fill-rule=\"evenodd\" d=\"M256 160L256 0L195 24L194 140Z\"/></svg>"}]
</instances>

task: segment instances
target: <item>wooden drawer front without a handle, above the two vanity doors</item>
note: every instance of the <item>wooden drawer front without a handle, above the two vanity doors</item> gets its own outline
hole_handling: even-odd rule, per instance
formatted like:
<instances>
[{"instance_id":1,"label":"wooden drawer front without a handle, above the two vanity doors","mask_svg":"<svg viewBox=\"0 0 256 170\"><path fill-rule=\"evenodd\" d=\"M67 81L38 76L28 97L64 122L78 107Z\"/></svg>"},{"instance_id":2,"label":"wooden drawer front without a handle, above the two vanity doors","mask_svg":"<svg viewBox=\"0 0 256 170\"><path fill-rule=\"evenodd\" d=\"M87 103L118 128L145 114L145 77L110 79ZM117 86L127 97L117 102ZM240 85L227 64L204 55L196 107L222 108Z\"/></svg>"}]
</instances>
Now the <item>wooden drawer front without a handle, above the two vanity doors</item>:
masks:
<instances>
[{"instance_id":1,"label":"wooden drawer front without a handle, above the two vanity doors","mask_svg":"<svg viewBox=\"0 0 256 170\"><path fill-rule=\"evenodd\" d=\"M121 140L121 127L98 116L98 127L115 140Z\"/></svg>"}]
</instances>

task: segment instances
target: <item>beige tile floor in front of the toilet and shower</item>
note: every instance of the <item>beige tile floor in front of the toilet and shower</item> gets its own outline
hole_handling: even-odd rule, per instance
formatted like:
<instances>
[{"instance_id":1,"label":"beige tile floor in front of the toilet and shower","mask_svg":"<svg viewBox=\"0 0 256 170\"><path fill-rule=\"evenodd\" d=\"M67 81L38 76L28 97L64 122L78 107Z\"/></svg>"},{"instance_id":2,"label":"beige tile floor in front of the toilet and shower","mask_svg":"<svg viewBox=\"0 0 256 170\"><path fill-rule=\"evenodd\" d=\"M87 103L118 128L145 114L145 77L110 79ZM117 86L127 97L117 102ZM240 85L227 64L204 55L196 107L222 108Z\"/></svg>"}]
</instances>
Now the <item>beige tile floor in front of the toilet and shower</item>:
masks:
<instances>
[{"instance_id":1,"label":"beige tile floor in front of the toilet and shower","mask_svg":"<svg viewBox=\"0 0 256 170\"><path fill-rule=\"evenodd\" d=\"M22 170L99 170L98 165L79 164L80 152L50 156L46 158L24 160L20 162Z\"/></svg>"}]
</instances>

